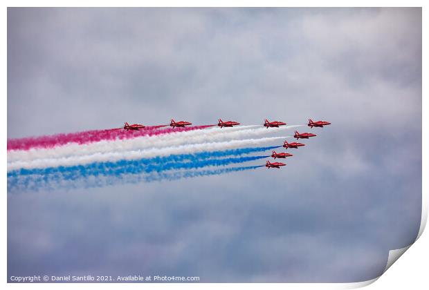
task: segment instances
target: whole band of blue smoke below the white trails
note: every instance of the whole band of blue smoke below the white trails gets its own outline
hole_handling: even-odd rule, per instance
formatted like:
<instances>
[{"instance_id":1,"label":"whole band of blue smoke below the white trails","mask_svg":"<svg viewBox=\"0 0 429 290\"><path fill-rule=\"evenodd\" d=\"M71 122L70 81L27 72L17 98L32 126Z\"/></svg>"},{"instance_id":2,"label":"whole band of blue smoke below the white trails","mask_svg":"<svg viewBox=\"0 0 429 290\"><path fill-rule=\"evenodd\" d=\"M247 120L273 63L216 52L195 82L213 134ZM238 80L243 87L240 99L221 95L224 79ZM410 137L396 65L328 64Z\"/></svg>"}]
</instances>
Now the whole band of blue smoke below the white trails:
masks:
<instances>
[{"instance_id":1,"label":"whole band of blue smoke below the white trails","mask_svg":"<svg viewBox=\"0 0 429 290\"><path fill-rule=\"evenodd\" d=\"M205 166L226 166L228 164L237 164L258 160L268 156L250 156L250 157L230 157L222 159L211 159L226 157L229 155L245 155L254 152L267 151L280 146L255 147L255 148L238 148L226 151L201 152L194 154L170 155L166 157L152 157L141 160L121 160L118 162L98 162L84 166L59 166L51 168L20 169L8 173L8 191L13 189L24 188L37 190L39 188L53 189L53 184L61 184L66 181L78 181L93 177L93 182L101 177L109 176L104 183L111 183L114 178L120 179L124 175L139 175L143 173L162 173L163 171L178 169L196 169ZM185 162L187 161L188 162ZM238 167L239 168L239 167ZM257 168L257 167L256 167ZM226 168L224 168L226 169ZM222 171L223 169L219 169ZM238 171L239 169L226 169L225 172ZM189 171L192 174L210 175L212 171ZM199 172L199 173L198 173ZM169 173L170 174L170 173ZM179 174L179 173L175 173ZM188 173L191 174L191 173ZM220 173L219 173L220 174ZM154 175L148 175L154 176ZM167 175L165 175L167 176ZM94 178L95 177L95 178ZM146 182L151 177L147 177ZM154 177L152 177L154 178ZM160 179L161 177L156 177ZM167 177L163 177L168 179ZM114 182L114 181L113 181ZM98 182L104 184L103 182ZM73 183L69 184L73 187ZM101 186L101 185L100 185Z\"/></svg>"}]
</instances>

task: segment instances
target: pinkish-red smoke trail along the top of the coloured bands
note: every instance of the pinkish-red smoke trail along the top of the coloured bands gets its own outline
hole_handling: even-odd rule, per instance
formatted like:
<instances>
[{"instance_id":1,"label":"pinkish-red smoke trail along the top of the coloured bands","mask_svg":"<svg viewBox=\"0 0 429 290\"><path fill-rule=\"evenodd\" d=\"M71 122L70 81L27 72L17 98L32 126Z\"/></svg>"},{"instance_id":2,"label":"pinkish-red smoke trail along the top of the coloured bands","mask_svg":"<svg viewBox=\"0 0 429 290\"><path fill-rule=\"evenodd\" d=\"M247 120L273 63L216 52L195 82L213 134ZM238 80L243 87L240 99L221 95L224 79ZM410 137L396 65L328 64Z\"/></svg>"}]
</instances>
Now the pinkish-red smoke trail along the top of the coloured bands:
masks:
<instances>
[{"instance_id":1,"label":"pinkish-red smoke trail along the top of the coloured bands","mask_svg":"<svg viewBox=\"0 0 429 290\"><path fill-rule=\"evenodd\" d=\"M132 139L142 136L156 136L174 132L192 131L208 128L215 125L190 126L186 128L166 128L159 129L163 126L146 127L139 131L126 131L122 128L113 128L106 130L83 131L77 133L56 134L50 136L27 137L19 139L8 139L8 151L12 150L29 150L31 148L53 148L68 143L88 144L100 141L109 141L117 139Z\"/></svg>"}]
</instances>

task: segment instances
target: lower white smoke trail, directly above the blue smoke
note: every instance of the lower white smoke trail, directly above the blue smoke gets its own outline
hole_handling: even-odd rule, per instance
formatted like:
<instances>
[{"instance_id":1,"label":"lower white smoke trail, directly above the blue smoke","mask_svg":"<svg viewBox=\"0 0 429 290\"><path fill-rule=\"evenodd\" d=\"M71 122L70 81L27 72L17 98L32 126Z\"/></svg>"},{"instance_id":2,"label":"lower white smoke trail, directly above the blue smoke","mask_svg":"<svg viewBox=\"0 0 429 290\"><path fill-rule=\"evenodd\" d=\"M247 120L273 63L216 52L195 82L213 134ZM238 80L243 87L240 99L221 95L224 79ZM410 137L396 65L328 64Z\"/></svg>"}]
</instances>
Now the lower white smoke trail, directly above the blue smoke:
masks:
<instances>
[{"instance_id":1,"label":"lower white smoke trail, directly above the blue smoke","mask_svg":"<svg viewBox=\"0 0 429 290\"><path fill-rule=\"evenodd\" d=\"M95 162L113 162L118 160L138 160L142 158L168 156L175 154L193 154L203 151L219 151L228 150L233 148L240 148L244 146L257 146L267 142L275 142L281 139L286 139L292 136L284 137L264 137L259 139L239 139L231 140L228 142L212 142L203 144L187 144L182 146L165 147L165 148L149 148L145 150L127 151L127 152L109 152L109 153L95 153L93 155L85 156L71 156L55 159L39 159L28 162L11 162L8 163L8 171L16 170L19 168L47 168L57 166L74 166L84 165Z\"/></svg>"}]
</instances>

